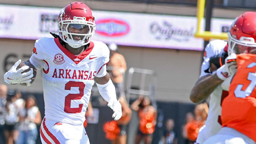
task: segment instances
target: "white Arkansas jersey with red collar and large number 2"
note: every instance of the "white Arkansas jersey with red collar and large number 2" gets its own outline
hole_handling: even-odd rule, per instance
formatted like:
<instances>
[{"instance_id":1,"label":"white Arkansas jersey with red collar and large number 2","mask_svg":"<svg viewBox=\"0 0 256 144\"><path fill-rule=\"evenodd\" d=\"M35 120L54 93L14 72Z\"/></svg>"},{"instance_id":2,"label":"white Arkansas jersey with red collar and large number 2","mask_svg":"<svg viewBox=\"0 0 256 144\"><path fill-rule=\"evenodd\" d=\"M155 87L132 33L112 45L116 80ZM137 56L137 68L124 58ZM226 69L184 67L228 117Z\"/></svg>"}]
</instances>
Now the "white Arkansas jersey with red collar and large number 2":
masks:
<instances>
[{"instance_id":1,"label":"white Arkansas jersey with red collar and large number 2","mask_svg":"<svg viewBox=\"0 0 256 144\"><path fill-rule=\"evenodd\" d=\"M85 121L94 77L106 75L109 61L106 44L91 41L81 54L74 55L58 38L38 39L30 62L43 70L45 118L70 124Z\"/></svg>"}]
</instances>

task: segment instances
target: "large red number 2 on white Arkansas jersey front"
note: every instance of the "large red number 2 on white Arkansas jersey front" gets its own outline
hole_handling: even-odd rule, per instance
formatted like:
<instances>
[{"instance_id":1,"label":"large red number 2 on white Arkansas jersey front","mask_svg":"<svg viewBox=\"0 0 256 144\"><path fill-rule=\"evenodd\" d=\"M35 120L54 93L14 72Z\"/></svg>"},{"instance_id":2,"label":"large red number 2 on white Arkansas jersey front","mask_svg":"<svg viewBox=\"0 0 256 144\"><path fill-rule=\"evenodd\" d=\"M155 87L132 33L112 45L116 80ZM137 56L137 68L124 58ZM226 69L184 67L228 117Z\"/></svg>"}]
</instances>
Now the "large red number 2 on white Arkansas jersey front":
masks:
<instances>
[{"instance_id":1,"label":"large red number 2 on white Arkansas jersey front","mask_svg":"<svg viewBox=\"0 0 256 144\"><path fill-rule=\"evenodd\" d=\"M71 90L71 87L79 87L79 94L68 94L65 97L65 107L64 112L66 113L80 113L82 111L82 106L84 104L79 104L77 108L71 108L71 100L80 100L84 96L84 82L79 81L69 81L65 84L65 90Z\"/></svg>"}]
</instances>

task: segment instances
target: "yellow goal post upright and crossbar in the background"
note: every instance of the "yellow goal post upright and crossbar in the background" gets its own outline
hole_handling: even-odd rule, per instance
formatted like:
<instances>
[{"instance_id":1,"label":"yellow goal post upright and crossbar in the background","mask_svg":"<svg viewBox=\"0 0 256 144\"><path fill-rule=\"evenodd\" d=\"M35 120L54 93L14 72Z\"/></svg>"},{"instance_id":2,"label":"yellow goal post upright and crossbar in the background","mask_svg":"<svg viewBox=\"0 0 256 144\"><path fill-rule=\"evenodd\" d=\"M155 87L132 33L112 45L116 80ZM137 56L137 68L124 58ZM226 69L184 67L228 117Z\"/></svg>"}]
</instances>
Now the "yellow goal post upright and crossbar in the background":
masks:
<instances>
[{"instance_id":1,"label":"yellow goal post upright and crossbar in the background","mask_svg":"<svg viewBox=\"0 0 256 144\"><path fill-rule=\"evenodd\" d=\"M197 32L194 34L194 37L203 38L206 41L210 39L228 39L228 33L226 32L201 31L205 1L197 0Z\"/></svg>"}]
</instances>

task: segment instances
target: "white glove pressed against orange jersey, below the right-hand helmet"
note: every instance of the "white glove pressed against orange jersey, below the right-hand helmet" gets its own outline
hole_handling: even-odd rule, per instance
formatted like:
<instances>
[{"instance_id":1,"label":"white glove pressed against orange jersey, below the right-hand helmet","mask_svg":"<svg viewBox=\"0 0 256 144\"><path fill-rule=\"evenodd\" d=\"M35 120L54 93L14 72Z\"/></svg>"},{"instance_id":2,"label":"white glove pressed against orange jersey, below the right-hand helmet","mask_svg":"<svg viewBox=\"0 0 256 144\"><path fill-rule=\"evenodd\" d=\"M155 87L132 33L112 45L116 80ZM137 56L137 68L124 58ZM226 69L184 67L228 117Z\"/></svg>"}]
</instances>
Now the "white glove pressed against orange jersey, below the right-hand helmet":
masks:
<instances>
[{"instance_id":1,"label":"white glove pressed against orange jersey, below the right-hand helmet","mask_svg":"<svg viewBox=\"0 0 256 144\"><path fill-rule=\"evenodd\" d=\"M237 71L236 54L232 53L225 59L226 70L229 75L233 75Z\"/></svg>"}]
</instances>

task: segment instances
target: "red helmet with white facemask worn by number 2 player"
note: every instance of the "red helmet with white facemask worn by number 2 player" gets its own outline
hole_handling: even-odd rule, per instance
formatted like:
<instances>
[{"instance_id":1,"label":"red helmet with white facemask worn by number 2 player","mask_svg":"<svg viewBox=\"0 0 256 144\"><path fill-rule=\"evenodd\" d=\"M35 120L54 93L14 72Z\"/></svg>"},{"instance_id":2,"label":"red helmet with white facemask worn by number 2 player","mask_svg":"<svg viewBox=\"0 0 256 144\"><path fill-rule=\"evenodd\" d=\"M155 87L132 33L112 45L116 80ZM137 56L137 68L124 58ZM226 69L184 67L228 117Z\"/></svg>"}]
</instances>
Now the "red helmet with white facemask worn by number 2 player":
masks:
<instances>
[{"instance_id":1,"label":"red helmet with white facemask worn by number 2 player","mask_svg":"<svg viewBox=\"0 0 256 144\"><path fill-rule=\"evenodd\" d=\"M58 28L60 38L73 48L90 43L96 24L92 10L82 2L66 5L59 14Z\"/></svg>"}]
</instances>

